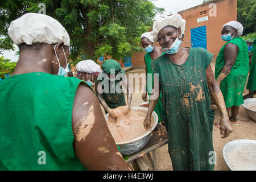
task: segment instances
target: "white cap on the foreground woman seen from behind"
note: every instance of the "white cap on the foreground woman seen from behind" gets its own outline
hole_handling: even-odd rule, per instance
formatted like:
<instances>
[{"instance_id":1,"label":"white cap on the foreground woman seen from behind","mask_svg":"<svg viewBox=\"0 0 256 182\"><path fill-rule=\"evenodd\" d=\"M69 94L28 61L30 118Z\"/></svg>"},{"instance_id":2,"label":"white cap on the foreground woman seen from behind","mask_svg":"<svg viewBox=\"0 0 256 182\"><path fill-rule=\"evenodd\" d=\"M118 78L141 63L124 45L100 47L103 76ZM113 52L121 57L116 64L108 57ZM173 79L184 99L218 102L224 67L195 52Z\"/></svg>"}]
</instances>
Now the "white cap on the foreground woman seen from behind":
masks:
<instances>
[{"instance_id":1,"label":"white cap on the foreground woman seen from behind","mask_svg":"<svg viewBox=\"0 0 256 182\"><path fill-rule=\"evenodd\" d=\"M56 19L51 16L27 13L11 22L8 34L17 45L26 43L57 44L61 41L70 46L68 32Z\"/></svg>"}]
</instances>

